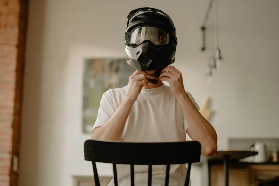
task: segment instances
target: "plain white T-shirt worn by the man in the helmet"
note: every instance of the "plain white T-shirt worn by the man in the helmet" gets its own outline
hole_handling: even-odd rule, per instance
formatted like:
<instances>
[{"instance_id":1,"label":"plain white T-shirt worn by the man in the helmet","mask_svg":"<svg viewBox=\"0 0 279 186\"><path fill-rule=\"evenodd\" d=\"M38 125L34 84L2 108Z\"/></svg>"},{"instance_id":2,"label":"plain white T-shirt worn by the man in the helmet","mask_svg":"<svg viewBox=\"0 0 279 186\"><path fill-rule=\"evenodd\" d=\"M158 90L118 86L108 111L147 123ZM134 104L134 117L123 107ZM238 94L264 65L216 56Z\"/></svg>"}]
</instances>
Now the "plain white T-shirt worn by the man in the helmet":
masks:
<instances>
[{"instance_id":1,"label":"plain white T-shirt worn by the man in the helmet","mask_svg":"<svg viewBox=\"0 0 279 186\"><path fill-rule=\"evenodd\" d=\"M103 126L113 116L124 99L128 86L109 89L100 101L95 127ZM192 95L192 102L199 109ZM172 95L170 86L142 89L127 119L122 139L125 142L175 142L186 141L187 121L178 101ZM93 132L92 130L92 132ZM170 166L170 186L184 185L186 165ZM135 186L148 184L148 166L135 165ZM152 186L165 185L166 166L152 166ZM119 186L131 185L130 165L117 164ZM113 186L113 180L108 186ZM191 185L191 184L189 184Z\"/></svg>"}]
</instances>

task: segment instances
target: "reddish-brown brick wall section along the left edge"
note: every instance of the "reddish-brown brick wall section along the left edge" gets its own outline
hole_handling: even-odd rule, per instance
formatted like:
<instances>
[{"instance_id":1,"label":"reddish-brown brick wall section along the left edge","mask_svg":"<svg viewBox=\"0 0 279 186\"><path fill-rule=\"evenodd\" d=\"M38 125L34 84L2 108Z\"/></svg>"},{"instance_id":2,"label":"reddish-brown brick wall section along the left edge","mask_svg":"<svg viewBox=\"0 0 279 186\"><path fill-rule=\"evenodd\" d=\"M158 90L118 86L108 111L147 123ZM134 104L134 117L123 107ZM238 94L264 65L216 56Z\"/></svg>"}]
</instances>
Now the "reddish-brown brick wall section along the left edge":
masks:
<instances>
[{"instance_id":1,"label":"reddish-brown brick wall section along the left edge","mask_svg":"<svg viewBox=\"0 0 279 186\"><path fill-rule=\"evenodd\" d=\"M28 0L0 0L0 186L17 185Z\"/></svg>"}]
</instances>

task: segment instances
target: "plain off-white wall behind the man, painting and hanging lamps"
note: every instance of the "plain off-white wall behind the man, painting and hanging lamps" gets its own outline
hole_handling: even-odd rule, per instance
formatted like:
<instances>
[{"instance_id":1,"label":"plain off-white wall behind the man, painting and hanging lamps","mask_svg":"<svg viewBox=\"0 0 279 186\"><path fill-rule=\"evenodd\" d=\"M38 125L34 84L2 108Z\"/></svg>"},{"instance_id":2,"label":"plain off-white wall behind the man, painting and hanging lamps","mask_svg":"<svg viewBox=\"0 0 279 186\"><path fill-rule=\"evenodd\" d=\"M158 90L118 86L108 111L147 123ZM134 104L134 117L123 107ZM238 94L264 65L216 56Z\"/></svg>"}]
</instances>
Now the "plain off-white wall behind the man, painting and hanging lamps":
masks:
<instances>
[{"instance_id":1,"label":"plain off-white wall behind the man, painting and hanging lamps","mask_svg":"<svg viewBox=\"0 0 279 186\"><path fill-rule=\"evenodd\" d=\"M279 1L220 3L221 70L209 85L199 27L208 0L31 0L21 128L20 186L71 185L91 175L83 160L82 74L85 57L124 56L130 10L150 6L169 14L177 28L175 66L202 106L211 96L219 149L228 137L278 137ZM98 166L111 175L109 165ZM194 168L193 185L201 185Z\"/></svg>"}]
</instances>

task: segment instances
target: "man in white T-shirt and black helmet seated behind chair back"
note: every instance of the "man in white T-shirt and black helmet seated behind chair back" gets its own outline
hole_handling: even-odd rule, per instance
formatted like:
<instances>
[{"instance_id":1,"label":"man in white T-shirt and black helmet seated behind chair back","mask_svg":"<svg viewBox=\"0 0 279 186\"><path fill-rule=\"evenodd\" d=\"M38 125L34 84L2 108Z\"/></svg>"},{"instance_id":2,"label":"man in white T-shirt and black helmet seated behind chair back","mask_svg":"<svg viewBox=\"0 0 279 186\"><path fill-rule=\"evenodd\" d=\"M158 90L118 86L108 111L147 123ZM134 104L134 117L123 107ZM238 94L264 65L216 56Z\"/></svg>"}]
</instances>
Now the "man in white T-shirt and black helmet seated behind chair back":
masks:
<instances>
[{"instance_id":1,"label":"man in white T-shirt and black helmet seated behind chair back","mask_svg":"<svg viewBox=\"0 0 279 186\"><path fill-rule=\"evenodd\" d=\"M92 139L185 141L186 131L201 143L203 155L216 152L214 128L199 113L192 95L184 90L182 73L170 66L175 61L176 45L175 27L167 14L148 7L130 12L125 55L128 64L137 70L128 86L110 89L102 96ZM164 185L166 166L152 168L152 185ZM135 185L147 185L148 166L135 166L134 170ZM186 171L186 165L171 165L169 185L184 185ZM117 178L119 185L130 185L130 166L117 165Z\"/></svg>"}]
</instances>

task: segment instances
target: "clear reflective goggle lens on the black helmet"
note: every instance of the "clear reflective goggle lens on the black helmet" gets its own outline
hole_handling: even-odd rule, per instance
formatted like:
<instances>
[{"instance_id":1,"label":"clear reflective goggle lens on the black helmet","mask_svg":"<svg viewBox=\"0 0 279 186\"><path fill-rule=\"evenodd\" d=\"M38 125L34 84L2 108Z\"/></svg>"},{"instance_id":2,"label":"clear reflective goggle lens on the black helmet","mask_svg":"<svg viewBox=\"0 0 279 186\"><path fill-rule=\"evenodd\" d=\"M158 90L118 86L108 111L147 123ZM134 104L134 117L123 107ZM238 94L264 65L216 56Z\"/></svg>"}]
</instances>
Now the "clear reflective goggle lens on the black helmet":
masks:
<instances>
[{"instance_id":1,"label":"clear reflective goggle lens on the black helmet","mask_svg":"<svg viewBox=\"0 0 279 186\"><path fill-rule=\"evenodd\" d=\"M139 27L130 33L128 42L138 45L145 40L155 45L167 45L169 34L155 27Z\"/></svg>"}]
</instances>

